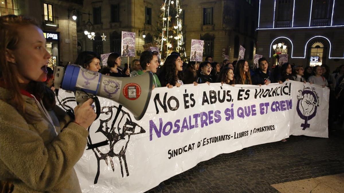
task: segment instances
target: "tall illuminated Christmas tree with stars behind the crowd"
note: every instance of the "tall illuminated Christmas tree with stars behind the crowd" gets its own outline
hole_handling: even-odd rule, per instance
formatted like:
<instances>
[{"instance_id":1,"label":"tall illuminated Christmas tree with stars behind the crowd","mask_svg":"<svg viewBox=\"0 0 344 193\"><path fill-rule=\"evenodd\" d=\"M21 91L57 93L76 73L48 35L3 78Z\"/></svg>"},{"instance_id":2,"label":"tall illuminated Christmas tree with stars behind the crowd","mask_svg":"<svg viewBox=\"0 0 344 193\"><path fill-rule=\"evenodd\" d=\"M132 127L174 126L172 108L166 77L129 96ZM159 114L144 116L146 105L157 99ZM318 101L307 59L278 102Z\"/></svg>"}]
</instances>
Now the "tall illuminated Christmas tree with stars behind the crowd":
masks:
<instances>
[{"instance_id":1,"label":"tall illuminated Christmas tree with stars behind the crowd","mask_svg":"<svg viewBox=\"0 0 344 193\"><path fill-rule=\"evenodd\" d=\"M155 41L162 60L173 51L179 52L182 59L186 58L180 7L179 0L165 0L161 5L161 20L158 22L158 38L155 38Z\"/></svg>"}]
</instances>

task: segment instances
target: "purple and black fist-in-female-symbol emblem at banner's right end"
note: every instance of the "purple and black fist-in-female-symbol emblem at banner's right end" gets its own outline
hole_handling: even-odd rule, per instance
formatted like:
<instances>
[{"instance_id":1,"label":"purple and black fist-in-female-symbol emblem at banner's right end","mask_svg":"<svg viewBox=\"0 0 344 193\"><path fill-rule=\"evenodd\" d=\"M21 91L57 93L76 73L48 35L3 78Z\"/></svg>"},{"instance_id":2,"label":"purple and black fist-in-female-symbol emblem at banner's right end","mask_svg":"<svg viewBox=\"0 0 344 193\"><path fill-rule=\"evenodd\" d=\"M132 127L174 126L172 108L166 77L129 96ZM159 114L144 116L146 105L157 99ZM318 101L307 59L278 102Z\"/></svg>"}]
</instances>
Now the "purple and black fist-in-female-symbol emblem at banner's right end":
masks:
<instances>
[{"instance_id":1,"label":"purple and black fist-in-female-symbol emblem at banner's right end","mask_svg":"<svg viewBox=\"0 0 344 193\"><path fill-rule=\"evenodd\" d=\"M299 90L298 104L296 111L300 118L304 120L304 123L301 124L302 130L310 127L308 123L313 117L315 117L317 107L319 106L319 97L313 90L303 89Z\"/></svg>"}]
</instances>

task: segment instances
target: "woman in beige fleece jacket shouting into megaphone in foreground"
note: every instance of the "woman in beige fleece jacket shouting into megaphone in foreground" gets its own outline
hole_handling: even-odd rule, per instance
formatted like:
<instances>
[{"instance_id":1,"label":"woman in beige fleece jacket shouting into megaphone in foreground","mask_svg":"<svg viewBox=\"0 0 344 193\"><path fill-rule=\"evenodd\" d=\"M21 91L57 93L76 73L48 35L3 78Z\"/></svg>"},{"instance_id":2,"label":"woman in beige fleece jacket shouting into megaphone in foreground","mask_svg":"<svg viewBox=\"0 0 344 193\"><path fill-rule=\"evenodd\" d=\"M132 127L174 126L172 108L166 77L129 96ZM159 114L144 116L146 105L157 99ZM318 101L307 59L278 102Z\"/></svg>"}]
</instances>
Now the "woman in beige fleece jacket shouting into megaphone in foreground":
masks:
<instances>
[{"instance_id":1,"label":"woman in beige fleece jacket shouting into megaphone in foreground","mask_svg":"<svg viewBox=\"0 0 344 193\"><path fill-rule=\"evenodd\" d=\"M32 19L0 17L0 179L13 192L81 192L73 167L96 118L93 100L75 108L75 120L55 105L45 46Z\"/></svg>"}]
</instances>

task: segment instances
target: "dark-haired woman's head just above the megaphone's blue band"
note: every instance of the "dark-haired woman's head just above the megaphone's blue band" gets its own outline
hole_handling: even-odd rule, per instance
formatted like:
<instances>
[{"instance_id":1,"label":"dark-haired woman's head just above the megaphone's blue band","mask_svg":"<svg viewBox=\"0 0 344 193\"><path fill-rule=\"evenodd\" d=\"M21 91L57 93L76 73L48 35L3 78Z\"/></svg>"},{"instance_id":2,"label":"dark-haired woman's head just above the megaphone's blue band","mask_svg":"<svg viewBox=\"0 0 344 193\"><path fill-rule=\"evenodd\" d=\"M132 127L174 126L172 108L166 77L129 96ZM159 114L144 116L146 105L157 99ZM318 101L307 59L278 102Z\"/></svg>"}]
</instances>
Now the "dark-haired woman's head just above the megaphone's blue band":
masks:
<instances>
[{"instance_id":1,"label":"dark-haired woman's head just above the megaphone's blue band","mask_svg":"<svg viewBox=\"0 0 344 193\"><path fill-rule=\"evenodd\" d=\"M92 51L84 51L78 55L75 64L88 70L98 72L100 70L100 56Z\"/></svg>"}]
</instances>

